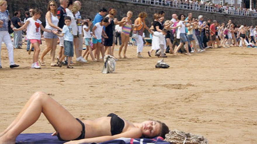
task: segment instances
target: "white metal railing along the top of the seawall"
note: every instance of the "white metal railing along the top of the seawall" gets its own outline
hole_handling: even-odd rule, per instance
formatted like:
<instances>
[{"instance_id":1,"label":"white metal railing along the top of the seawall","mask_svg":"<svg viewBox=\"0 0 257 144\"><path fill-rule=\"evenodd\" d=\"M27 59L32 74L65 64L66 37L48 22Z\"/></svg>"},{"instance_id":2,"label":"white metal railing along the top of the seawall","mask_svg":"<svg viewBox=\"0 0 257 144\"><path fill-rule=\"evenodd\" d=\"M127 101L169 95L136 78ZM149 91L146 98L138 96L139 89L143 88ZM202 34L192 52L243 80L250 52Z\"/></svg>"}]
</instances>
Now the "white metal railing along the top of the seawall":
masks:
<instances>
[{"instance_id":1,"label":"white metal railing along the top of the seawall","mask_svg":"<svg viewBox=\"0 0 257 144\"><path fill-rule=\"evenodd\" d=\"M145 3L150 5L161 5L161 6L170 6L173 8L182 8L182 9L190 9L197 11L207 11L212 13L224 13L228 15L241 15L241 16L249 16L249 17L257 17L257 12L248 11L248 10L237 10L231 7L227 8L218 8L215 6L209 6L200 4L198 2L181 2L180 0L129 0L138 3Z\"/></svg>"}]
</instances>

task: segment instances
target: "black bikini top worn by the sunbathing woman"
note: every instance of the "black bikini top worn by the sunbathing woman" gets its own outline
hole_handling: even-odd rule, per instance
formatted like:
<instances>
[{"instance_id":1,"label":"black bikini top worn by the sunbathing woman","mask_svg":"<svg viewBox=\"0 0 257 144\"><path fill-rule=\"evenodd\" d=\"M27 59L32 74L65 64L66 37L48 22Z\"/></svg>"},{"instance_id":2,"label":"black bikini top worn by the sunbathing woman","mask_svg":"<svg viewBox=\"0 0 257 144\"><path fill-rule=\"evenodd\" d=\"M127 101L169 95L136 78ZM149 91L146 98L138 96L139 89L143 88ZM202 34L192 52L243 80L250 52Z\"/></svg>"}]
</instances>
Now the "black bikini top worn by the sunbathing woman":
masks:
<instances>
[{"instance_id":1,"label":"black bikini top worn by the sunbathing woman","mask_svg":"<svg viewBox=\"0 0 257 144\"><path fill-rule=\"evenodd\" d=\"M109 115L107 115L111 118L111 133L112 136L116 135L116 134L120 134L124 128L124 120L122 120L118 115L114 114L114 113L110 113Z\"/></svg>"}]
</instances>

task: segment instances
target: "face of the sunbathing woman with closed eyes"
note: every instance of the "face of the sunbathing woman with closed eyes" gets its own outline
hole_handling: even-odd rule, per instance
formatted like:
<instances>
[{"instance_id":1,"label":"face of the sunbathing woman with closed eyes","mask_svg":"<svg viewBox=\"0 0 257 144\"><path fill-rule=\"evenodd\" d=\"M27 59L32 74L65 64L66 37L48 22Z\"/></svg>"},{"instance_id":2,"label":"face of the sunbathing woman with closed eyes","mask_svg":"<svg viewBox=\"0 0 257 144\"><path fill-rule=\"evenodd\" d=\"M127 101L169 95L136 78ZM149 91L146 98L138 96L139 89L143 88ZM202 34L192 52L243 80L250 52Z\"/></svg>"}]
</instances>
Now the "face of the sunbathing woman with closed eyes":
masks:
<instances>
[{"instance_id":1,"label":"face of the sunbathing woman with closed eyes","mask_svg":"<svg viewBox=\"0 0 257 144\"><path fill-rule=\"evenodd\" d=\"M161 124L156 121L148 120L142 122L143 135L148 138L153 138L160 133Z\"/></svg>"}]
</instances>

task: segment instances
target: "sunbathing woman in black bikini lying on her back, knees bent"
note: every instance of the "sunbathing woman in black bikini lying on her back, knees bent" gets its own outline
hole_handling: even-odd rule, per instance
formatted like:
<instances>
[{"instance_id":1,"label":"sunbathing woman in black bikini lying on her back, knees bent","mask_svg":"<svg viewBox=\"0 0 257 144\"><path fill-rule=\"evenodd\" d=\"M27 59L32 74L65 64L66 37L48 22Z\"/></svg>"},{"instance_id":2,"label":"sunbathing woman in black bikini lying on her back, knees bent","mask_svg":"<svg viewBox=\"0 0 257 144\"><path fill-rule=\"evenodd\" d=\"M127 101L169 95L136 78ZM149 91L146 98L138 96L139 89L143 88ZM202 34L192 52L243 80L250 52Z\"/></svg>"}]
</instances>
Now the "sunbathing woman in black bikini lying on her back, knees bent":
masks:
<instances>
[{"instance_id":1,"label":"sunbathing woman in black bikini lying on her back, knees bent","mask_svg":"<svg viewBox=\"0 0 257 144\"><path fill-rule=\"evenodd\" d=\"M44 113L55 129L56 132L52 135L57 135L61 141L69 141L65 144L104 142L121 137L162 136L164 138L169 132L169 128L162 122L131 123L113 113L107 117L81 122L46 93L36 92L11 125L0 133L0 144L15 143L15 138L34 124L41 113Z\"/></svg>"}]
</instances>

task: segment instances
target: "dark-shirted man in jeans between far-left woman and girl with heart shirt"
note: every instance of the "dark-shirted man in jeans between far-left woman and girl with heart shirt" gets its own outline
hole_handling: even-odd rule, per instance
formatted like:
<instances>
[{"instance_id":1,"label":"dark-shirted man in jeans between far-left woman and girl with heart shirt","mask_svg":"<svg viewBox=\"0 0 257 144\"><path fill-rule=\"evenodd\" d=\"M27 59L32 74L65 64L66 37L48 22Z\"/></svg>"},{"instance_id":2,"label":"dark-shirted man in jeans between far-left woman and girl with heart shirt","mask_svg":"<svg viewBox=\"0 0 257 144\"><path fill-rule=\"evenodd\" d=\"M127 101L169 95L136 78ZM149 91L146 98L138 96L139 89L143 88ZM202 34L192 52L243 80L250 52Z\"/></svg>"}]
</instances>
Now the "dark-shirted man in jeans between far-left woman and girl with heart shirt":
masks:
<instances>
[{"instance_id":1,"label":"dark-shirted man in jeans between far-left woman and girl with heart shirt","mask_svg":"<svg viewBox=\"0 0 257 144\"><path fill-rule=\"evenodd\" d=\"M20 11L15 11L14 12L14 17L11 19L13 26L15 28L20 28L23 23L20 21ZM22 49L22 43L19 43L22 41L22 31L14 31L14 42L13 42L13 47L15 49Z\"/></svg>"}]
</instances>

